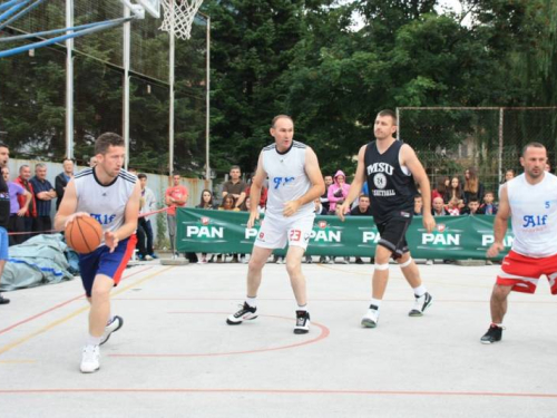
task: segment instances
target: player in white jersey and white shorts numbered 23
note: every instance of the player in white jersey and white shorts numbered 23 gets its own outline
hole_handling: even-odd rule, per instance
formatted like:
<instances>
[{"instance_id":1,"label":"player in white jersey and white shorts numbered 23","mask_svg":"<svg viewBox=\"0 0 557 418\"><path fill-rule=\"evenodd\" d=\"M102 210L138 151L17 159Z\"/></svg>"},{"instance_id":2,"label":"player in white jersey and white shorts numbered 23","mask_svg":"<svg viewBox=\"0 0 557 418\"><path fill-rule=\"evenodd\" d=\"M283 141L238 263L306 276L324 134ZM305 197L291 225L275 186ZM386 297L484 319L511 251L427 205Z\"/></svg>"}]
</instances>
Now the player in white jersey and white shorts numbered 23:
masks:
<instances>
[{"instance_id":1,"label":"player in white jersey and white shorts numbered 23","mask_svg":"<svg viewBox=\"0 0 557 418\"><path fill-rule=\"evenodd\" d=\"M284 249L289 243L286 271L297 302L294 333L303 334L310 331L310 313L302 259L313 230L313 201L324 193L325 185L313 149L293 140L294 123L290 116L278 115L273 119L271 136L275 143L261 152L250 191L251 202L260 202L263 182L268 177L265 220L247 270L247 298L242 309L229 315L226 322L237 325L257 318L256 298L263 266L274 249ZM257 205L252 205L247 227L253 227L258 217Z\"/></svg>"}]
</instances>

